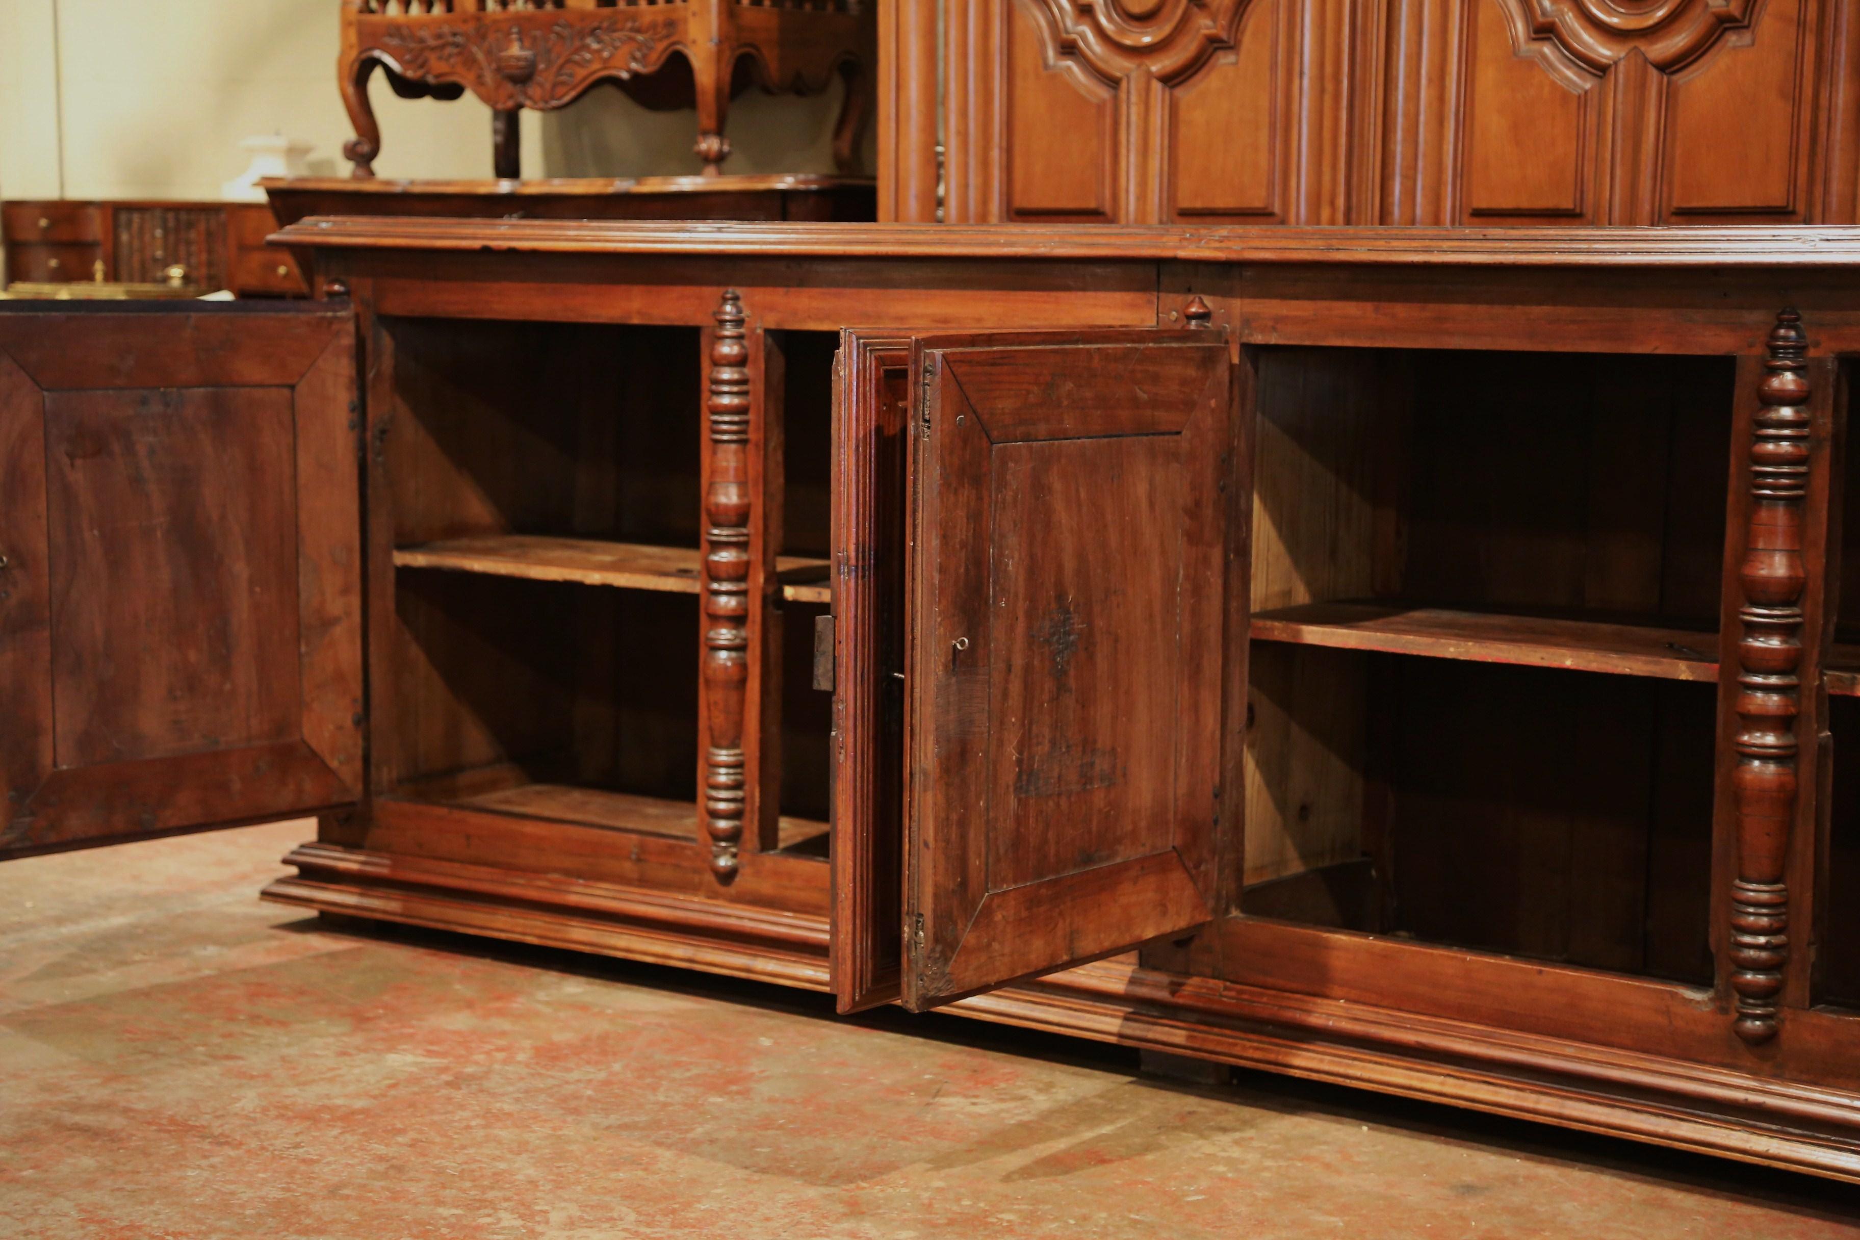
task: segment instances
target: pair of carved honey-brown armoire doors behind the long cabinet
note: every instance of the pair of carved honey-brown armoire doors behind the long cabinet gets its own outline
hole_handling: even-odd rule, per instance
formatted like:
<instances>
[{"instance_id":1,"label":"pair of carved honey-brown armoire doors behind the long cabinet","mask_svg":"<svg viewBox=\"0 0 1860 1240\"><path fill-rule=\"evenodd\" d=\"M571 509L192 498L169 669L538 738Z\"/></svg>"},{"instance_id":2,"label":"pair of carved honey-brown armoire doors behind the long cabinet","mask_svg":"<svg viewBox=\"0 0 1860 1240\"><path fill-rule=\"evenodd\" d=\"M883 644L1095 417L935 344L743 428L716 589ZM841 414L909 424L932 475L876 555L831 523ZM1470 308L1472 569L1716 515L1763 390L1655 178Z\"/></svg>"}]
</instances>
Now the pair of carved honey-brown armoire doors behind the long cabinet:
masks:
<instances>
[{"instance_id":1,"label":"pair of carved honey-brown armoire doors behind the long cabinet","mask_svg":"<svg viewBox=\"0 0 1860 1240\"><path fill-rule=\"evenodd\" d=\"M943 218L1849 223L1847 6L945 0Z\"/></svg>"}]
</instances>

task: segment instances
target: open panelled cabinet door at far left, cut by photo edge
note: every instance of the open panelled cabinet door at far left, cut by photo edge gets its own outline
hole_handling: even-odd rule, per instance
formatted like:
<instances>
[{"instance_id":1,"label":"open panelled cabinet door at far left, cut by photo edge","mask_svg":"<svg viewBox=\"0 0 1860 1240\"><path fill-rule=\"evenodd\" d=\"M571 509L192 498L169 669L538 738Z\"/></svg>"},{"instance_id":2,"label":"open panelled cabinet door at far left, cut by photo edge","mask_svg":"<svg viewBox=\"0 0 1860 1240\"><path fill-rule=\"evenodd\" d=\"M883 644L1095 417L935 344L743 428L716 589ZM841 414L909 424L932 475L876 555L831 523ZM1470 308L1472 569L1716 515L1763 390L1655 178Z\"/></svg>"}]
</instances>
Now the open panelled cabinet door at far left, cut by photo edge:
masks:
<instances>
[{"instance_id":1,"label":"open panelled cabinet door at far left, cut by photo edge","mask_svg":"<svg viewBox=\"0 0 1860 1240\"><path fill-rule=\"evenodd\" d=\"M0 857L361 794L346 303L0 303Z\"/></svg>"}]
</instances>

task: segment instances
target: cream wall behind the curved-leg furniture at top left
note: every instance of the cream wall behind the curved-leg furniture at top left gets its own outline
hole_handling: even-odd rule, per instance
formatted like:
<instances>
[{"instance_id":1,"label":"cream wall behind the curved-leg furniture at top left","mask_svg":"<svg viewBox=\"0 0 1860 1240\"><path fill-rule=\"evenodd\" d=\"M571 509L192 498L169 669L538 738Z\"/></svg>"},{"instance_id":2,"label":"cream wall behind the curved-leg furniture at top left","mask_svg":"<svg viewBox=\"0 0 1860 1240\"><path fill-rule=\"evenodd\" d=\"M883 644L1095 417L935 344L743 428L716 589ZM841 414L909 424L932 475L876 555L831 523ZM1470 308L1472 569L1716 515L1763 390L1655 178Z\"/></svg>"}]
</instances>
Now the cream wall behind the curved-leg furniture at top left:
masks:
<instances>
[{"instance_id":1,"label":"cream wall behind the curved-leg furniture at top left","mask_svg":"<svg viewBox=\"0 0 1860 1240\"><path fill-rule=\"evenodd\" d=\"M238 141L314 143L311 171L348 175L337 0L0 0L0 197L212 199L246 169ZM839 87L746 95L725 171L831 171ZM491 113L398 99L370 82L381 177L489 177ZM699 171L690 112L653 113L597 87L525 113L526 177Z\"/></svg>"}]
</instances>

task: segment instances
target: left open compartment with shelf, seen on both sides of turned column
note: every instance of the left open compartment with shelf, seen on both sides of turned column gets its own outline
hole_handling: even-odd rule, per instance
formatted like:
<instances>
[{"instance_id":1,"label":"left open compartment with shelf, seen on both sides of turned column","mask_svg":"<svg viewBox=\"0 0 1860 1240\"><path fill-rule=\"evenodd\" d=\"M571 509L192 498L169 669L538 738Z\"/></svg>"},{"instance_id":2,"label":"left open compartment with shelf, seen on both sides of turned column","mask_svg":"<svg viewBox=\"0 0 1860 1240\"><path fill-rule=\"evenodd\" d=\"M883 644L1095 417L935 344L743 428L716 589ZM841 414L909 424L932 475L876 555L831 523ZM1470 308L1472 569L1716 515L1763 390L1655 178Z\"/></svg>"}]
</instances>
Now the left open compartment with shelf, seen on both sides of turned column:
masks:
<instances>
[{"instance_id":1,"label":"left open compartment with shelf, seen on both sides of turned column","mask_svg":"<svg viewBox=\"0 0 1860 1240\"><path fill-rule=\"evenodd\" d=\"M692 838L701 742L705 359L696 327L387 320L394 640L385 796ZM824 346L822 346L824 342ZM826 853L831 336L768 353L763 613L777 844ZM779 402L779 403L777 403ZM787 493L787 506L779 496Z\"/></svg>"}]
</instances>

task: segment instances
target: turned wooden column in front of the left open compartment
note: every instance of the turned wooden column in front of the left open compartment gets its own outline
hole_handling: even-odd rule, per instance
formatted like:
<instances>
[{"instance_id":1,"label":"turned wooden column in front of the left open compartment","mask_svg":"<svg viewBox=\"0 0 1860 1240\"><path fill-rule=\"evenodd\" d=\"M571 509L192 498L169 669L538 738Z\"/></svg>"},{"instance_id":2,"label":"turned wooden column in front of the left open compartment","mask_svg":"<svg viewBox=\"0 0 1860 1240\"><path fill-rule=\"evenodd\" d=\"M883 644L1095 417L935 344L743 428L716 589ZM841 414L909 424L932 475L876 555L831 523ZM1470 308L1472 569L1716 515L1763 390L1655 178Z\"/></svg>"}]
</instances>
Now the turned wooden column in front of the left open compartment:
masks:
<instances>
[{"instance_id":1,"label":"turned wooden column in front of the left open compartment","mask_svg":"<svg viewBox=\"0 0 1860 1240\"><path fill-rule=\"evenodd\" d=\"M705 398L703 496L703 829L711 872L737 876L748 803L744 718L750 684L750 346L742 297L716 309Z\"/></svg>"}]
</instances>

